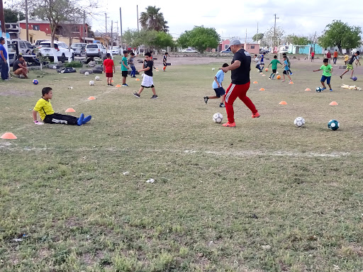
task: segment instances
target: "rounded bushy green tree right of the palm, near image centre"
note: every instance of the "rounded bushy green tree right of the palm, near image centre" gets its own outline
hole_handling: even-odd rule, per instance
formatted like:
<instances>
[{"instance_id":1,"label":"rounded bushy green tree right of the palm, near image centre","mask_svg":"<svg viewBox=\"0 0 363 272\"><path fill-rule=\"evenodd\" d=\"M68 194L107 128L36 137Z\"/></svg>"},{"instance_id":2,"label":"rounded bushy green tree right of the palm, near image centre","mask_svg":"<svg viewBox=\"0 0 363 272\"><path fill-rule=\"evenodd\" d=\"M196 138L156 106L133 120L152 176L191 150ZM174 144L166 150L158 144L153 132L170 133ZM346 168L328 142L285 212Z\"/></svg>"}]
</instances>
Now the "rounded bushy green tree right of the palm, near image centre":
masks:
<instances>
[{"instance_id":1,"label":"rounded bushy green tree right of the palm, near image centre","mask_svg":"<svg viewBox=\"0 0 363 272\"><path fill-rule=\"evenodd\" d=\"M192 30L186 30L178 39L181 47L195 47L199 52L203 52L208 47L216 48L220 41L220 35L215 28L205 28L204 26L194 26Z\"/></svg>"}]
</instances>

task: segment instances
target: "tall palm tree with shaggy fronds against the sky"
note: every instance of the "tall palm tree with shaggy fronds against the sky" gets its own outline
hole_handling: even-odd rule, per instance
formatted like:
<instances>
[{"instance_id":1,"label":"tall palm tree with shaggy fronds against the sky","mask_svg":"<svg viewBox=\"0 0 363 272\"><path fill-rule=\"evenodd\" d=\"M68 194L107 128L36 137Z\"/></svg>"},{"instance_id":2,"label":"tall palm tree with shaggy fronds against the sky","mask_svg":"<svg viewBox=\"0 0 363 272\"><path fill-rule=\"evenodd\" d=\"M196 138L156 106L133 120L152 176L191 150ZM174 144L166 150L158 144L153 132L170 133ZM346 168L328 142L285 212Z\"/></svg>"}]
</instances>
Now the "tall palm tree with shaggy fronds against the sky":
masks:
<instances>
[{"instance_id":1,"label":"tall palm tree with shaggy fronds against the sky","mask_svg":"<svg viewBox=\"0 0 363 272\"><path fill-rule=\"evenodd\" d=\"M147 6L146 11L142 12L140 15L141 27L145 30L157 30L168 32L169 26L167 26L167 21L165 21L160 8L156 6Z\"/></svg>"}]
</instances>

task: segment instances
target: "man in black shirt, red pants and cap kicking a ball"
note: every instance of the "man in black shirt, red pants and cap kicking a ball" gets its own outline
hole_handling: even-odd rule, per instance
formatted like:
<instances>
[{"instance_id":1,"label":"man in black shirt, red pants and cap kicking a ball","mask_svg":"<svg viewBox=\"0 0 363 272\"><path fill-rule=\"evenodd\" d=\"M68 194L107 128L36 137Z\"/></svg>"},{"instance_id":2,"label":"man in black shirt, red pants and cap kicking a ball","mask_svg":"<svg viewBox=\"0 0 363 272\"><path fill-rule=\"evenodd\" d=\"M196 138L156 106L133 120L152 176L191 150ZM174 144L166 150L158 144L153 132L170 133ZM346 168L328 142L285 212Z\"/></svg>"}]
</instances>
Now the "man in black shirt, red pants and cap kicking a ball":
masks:
<instances>
[{"instance_id":1,"label":"man in black shirt, red pants and cap kicking a ball","mask_svg":"<svg viewBox=\"0 0 363 272\"><path fill-rule=\"evenodd\" d=\"M252 118L258 118L260 114L255 104L246 96L250 88L251 55L242 48L238 39L230 40L230 50L234 54L230 66L220 68L225 73L228 71L232 73L230 75L232 82L225 91L225 111L227 111L228 123L223 124L223 127L235 128L235 112L233 111L235 99L240 98L245 103L252 111Z\"/></svg>"}]
</instances>

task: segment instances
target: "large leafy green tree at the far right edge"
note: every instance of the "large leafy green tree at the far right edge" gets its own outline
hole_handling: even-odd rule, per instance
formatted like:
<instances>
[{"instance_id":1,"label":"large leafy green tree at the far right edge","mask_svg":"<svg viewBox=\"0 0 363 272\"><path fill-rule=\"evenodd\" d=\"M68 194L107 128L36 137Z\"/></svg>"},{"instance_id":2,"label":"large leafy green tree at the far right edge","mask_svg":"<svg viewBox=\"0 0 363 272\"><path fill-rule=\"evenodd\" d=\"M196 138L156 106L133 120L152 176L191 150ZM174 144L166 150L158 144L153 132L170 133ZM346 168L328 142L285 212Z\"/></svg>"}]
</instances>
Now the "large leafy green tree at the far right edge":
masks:
<instances>
[{"instance_id":1,"label":"large leafy green tree at the far right edge","mask_svg":"<svg viewBox=\"0 0 363 272\"><path fill-rule=\"evenodd\" d=\"M360 45L361 33L362 28L359 26L349 26L347 23L334 20L325 27L318 44L324 48L337 46L341 54L342 48L352 49Z\"/></svg>"}]
</instances>

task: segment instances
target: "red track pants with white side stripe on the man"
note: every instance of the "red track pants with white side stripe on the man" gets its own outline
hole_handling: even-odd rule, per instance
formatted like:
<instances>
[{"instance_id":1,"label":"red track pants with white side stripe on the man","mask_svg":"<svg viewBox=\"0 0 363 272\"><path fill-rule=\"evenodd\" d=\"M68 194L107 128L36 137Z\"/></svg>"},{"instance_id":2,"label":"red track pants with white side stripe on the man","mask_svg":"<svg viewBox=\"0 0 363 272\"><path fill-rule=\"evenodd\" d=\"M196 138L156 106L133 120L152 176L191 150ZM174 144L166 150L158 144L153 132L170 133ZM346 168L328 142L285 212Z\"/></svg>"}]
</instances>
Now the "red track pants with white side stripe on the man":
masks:
<instances>
[{"instance_id":1,"label":"red track pants with white side stripe on the man","mask_svg":"<svg viewBox=\"0 0 363 272\"><path fill-rule=\"evenodd\" d=\"M235 122L235 112L233 111L233 102L236 98L240 98L243 103L252 111L257 113L257 109L252 103L251 99L246 96L246 93L250 89L250 82L246 84L230 84L227 91L225 91L225 111L227 111L227 118L229 123Z\"/></svg>"}]
</instances>

